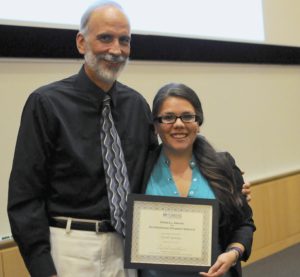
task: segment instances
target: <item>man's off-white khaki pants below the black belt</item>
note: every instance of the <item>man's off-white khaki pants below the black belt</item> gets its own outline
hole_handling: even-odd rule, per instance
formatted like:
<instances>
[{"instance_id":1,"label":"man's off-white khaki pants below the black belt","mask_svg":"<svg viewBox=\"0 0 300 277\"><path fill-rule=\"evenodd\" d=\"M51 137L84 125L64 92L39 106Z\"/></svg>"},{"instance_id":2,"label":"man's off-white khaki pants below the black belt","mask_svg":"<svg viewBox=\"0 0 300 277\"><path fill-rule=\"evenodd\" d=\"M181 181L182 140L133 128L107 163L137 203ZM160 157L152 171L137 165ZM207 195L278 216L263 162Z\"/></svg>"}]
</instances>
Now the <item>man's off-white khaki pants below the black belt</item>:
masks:
<instances>
[{"instance_id":1,"label":"man's off-white khaki pants below the black belt","mask_svg":"<svg viewBox=\"0 0 300 277\"><path fill-rule=\"evenodd\" d=\"M50 227L50 242L58 277L137 277L124 269L124 242L116 232Z\"/></svg>"}]
</instances>

